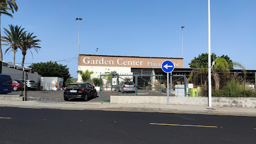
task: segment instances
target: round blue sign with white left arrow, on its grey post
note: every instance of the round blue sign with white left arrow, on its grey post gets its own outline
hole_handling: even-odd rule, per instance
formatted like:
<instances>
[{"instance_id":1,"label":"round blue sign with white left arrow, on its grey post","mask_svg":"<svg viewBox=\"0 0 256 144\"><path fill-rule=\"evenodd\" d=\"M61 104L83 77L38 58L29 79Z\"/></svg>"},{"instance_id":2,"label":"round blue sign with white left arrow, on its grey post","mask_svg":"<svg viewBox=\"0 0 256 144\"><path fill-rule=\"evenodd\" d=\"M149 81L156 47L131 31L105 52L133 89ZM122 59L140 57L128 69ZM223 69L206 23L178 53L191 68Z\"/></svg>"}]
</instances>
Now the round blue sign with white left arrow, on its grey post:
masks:
<instances>
[{"instance_id":1,"label":"round blue sign with white left arrow, on its grey post","mask_svg":"<svg viewBox=\"0 0 256 144\"><path fill-rule=\"evenodd\" d=\"M174 70L174 64L172 61L164 61L162 63L162 70L167 73L167 104L169 105L169 73Z\"/></svg>"}]
</instances>

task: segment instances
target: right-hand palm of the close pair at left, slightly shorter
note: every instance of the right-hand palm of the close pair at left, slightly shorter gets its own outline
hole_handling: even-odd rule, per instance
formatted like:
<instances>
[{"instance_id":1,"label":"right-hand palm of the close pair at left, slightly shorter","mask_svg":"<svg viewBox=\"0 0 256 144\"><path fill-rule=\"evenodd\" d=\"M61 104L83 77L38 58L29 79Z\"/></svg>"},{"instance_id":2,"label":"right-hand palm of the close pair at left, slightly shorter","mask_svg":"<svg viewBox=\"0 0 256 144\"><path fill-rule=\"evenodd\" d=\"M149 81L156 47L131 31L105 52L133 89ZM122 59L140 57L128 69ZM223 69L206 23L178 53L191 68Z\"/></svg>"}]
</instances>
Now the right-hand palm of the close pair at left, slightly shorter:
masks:
<instances>
[{"instance_id":1,"label":"right-hand palm of the close pair at left, slightly shorter","mask_svg":"<svg viewBox=\"0 0 256 144\"><path fill-rule=\"evenodd\" d=\"M31 49L34 49L35 52L38 53L38 50L40 50L40 46L38 46L38 43L40 40L35 40L35 38L37 36L32 36L34 33L26 33L24 32L24 34L22 35L22 38L21 38L21 43L20 43L20 50L22 50L22 67L24 65L24 61L25 61L25 56L26 56L26 51L30 51L31 52ZM32 56L33 56L33 53L31 52Z\"/></svg>"}]
</instances>

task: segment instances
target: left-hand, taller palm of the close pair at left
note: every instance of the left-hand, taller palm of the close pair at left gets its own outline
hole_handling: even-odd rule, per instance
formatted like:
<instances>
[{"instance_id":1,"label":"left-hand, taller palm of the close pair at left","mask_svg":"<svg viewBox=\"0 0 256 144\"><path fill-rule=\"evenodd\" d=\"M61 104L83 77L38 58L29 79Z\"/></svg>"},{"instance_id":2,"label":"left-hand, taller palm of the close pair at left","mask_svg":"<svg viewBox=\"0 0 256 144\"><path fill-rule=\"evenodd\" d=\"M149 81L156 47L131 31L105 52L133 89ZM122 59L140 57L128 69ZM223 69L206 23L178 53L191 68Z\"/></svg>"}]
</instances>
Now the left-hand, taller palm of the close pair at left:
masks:
<instances>
[{"instance_id":1,"label":"left-hand, taller palm of the close pair at left","mask_svg":"<svg viewBox=\"0 0 256 144\"><path fill-rule=\"evenodd\" d=\"M5 53L7 53L8 50L13 51L13 64L15 64L15 55L16 55L17 49L20 47L22 36L24 34L23 32L24 28L21 28L21 26L17 26L17 25L16 26L9 25L9 27L10 27L10 31L4 28L4 33L7 35L7 37L2 37L2 41L5 41L7 45L10 46L5 50Z\"/></svg>"}]
</instances>

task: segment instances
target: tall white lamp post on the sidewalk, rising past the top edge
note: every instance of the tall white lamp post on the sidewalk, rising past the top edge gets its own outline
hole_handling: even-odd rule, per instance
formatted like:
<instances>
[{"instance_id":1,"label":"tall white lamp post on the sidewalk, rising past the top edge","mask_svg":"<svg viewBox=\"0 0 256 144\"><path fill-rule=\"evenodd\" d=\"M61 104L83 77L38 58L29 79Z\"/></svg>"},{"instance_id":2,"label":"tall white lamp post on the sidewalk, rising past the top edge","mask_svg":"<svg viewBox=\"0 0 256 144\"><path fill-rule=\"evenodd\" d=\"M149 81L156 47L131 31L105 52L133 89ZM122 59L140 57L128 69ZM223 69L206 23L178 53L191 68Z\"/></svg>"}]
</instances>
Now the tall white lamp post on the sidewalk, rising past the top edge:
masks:
<instances>
[{"instance_id":1,"label":"tall white lamp post on the sidewalk, rising past the top edge","mask_svg":"<svg viewBox=\"0 0 256 144\"><path fill-rule=\"evenodd\" d=\"M211 23L210 23L210 0L208 0L208 104L212 107L212 77L211 77Z\"/></svg>"}]
</instances>

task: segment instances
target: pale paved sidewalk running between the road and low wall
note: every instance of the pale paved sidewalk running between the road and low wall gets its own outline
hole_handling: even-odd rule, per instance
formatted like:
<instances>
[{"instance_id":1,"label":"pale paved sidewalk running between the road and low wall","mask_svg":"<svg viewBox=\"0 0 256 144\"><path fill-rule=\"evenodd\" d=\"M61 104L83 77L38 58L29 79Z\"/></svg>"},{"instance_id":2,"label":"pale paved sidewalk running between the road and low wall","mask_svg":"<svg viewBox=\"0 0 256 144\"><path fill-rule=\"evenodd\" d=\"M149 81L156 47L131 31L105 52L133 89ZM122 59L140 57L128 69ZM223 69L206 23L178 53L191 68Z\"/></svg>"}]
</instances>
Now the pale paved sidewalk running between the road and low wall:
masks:
<instances>
[{"instance_id":1,"label":"pale paved sidewalk running between the road and low wall","mask_svg":"<svg viewBox=\"0 0 256 144\"><path fill-rule=\"evenodd\" d=\"M70 110L116 110L138 112L166 112L166 113L204 113L220 115L250 115L256 116L256 109L243 107L207 107L166 104L110 104L88 102L44 102L44 101L10 101L0 100L0 106L49 108Z\"/></svg>"}]
</instances>

